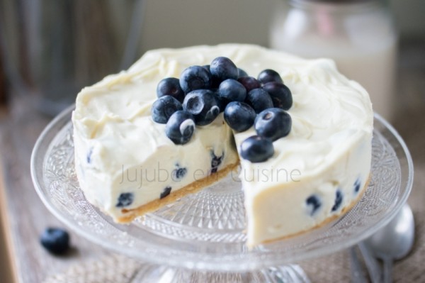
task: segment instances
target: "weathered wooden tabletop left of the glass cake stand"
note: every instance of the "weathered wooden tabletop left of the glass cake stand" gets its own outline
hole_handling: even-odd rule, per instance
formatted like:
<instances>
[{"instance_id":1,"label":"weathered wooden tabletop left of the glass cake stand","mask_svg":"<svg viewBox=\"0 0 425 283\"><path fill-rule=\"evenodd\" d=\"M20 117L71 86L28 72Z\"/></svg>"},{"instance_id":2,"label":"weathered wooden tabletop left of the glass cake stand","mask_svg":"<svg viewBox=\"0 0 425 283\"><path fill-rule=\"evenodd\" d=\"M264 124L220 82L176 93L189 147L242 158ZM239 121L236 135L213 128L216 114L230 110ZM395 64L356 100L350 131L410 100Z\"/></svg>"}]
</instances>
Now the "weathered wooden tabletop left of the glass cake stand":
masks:
<instances>
[{"instance_id":1,"label":"weathered wooden tabletop left of the glass cake stand","mask_svg":"<svg viewBox=\"0 0 425 283\"><path fill-rule=\"evenodd\" d=\"M106 253L74 233L72 244L77 248L67 257L52 256L39 244L39 235L47 226L63 227L63 224L47 211L31 181L31 150L50 118L34 109L30 100L30 97L15 99L11 111L0 123L4 170L1 207L6 212L6 240L16 282L42 282L49 274L60 272L74 262Z\"/></svg>"}]
</instances>

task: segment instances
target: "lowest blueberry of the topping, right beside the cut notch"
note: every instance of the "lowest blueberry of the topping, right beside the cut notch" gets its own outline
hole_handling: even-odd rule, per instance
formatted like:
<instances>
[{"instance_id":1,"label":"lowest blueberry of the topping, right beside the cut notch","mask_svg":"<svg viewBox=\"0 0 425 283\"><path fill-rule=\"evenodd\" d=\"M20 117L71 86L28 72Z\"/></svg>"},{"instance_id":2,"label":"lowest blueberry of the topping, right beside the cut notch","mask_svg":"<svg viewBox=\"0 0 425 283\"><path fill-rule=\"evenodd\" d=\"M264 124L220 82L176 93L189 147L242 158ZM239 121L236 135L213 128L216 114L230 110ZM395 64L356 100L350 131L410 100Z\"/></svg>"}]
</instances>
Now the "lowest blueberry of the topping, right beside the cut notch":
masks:
<instances>
[{"instance_id":1,"label":"lowest blueberry of the topping, right beside the cut notch","mask_svg":"<svg viewBox=\"0 0 425 283\"><path fill-rule=\"evenodd\" d=\"M274 154L273 143L267 138L253 135L241 143L240 155L251 162L264 162Z\"/></svg>"}]
</instances>

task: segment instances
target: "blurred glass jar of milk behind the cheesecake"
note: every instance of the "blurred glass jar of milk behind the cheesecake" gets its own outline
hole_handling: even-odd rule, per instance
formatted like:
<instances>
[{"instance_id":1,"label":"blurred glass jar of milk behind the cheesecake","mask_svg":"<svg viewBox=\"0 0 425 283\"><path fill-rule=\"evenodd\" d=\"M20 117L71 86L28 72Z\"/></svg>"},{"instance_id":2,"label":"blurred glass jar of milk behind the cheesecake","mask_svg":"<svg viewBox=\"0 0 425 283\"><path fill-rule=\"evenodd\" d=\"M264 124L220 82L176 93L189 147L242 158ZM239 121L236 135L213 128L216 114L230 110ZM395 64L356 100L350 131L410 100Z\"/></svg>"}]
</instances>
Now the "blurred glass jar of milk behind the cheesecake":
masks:
<instances>
[{"instance_id":1,"label":"blurred glass jar of milk behind the cheesecake","mask_svg":"<svg viewBox=\"0 0 425 283\"><path fill-rule=\"evenodd\" d=\"M334 59L369 92L373 109L391 119L397 33L385 1L288 0L276 9L270 44L301 57Z\"/></svg>"}]
</instances>

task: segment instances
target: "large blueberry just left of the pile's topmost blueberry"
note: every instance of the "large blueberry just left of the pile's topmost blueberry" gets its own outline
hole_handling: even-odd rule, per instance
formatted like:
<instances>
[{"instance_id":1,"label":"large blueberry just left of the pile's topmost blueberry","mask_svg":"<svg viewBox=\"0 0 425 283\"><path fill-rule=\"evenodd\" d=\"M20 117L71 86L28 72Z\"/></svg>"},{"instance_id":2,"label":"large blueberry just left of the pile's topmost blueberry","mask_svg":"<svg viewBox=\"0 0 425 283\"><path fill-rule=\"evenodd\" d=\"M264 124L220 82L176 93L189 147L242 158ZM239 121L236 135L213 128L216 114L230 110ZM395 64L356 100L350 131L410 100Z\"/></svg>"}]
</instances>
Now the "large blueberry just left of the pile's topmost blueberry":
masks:
<instances>
[{"instance_id":1,"label":"large blueberry just left of the pile's topmost blueberry","mask_svg":"<svg viewBox=\"0 0 425 283\"><path fill-rule=\"evenodd\" d=\"M191 66L181 73L180 87L185 94L195 89L208 89L210 85L211 74L205 67Z\"/></svg>"}]
</instances>

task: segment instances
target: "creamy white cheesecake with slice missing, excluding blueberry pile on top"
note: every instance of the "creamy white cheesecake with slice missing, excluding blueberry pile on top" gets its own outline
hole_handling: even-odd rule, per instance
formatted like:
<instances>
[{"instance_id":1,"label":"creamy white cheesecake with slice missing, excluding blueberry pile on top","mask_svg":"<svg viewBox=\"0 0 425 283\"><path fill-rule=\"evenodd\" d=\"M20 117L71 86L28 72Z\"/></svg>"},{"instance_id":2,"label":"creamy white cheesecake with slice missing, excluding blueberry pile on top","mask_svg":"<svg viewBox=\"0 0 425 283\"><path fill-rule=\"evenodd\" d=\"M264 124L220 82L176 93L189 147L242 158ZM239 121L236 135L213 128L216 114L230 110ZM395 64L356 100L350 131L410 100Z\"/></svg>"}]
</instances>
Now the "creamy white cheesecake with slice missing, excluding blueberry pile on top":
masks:
<instances>
[{"instance_id":1,"label":"creamy white cheesecake with slice missing, excluding blueberry pile on top","mask_svg":"<svg viewBox=\"0 0 425 283\"><path fill-rule=\"evenodd\" d=\"M256 132L232 131L222 113L196 126L184 145L152 120L159 81L220 56L253 77L276 70L292 91L291 131L273 142L265 162L239 158L241 143ZM331 60L303 60L255 45L149 51L128 71L83 89L72 121L81 189L118 222L196 192L240 164L250 246L340 215L359 199L370 172L373 110L365 89L339 74Z\"/></svg>"}]
</instances>

